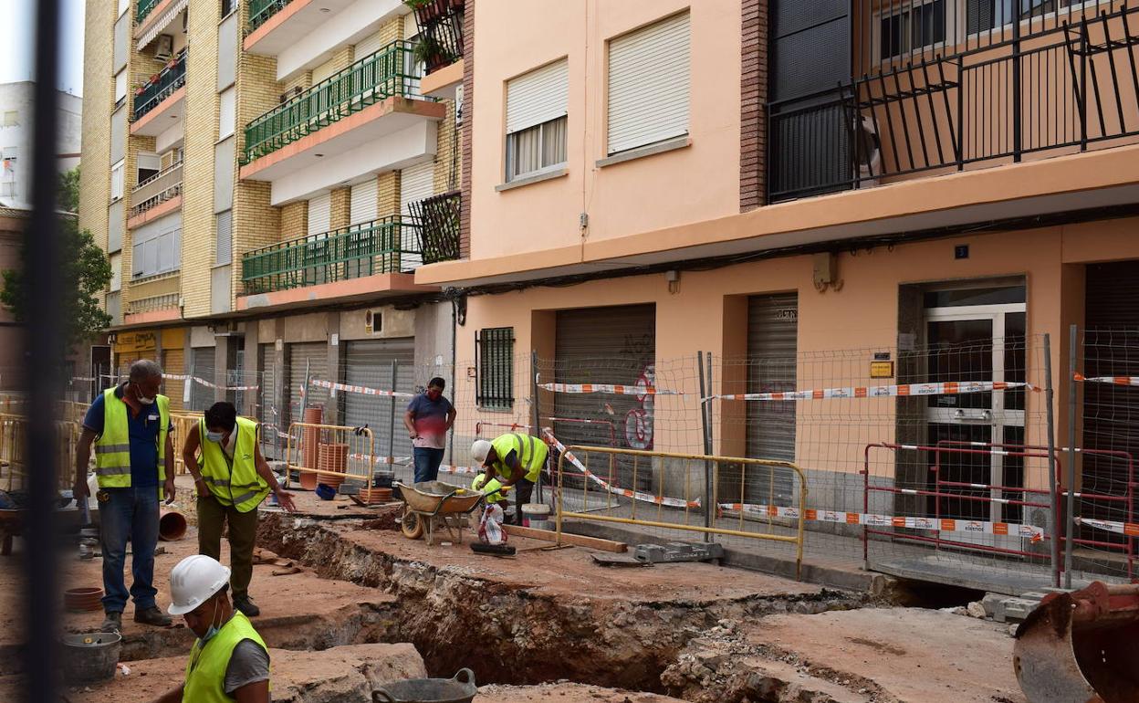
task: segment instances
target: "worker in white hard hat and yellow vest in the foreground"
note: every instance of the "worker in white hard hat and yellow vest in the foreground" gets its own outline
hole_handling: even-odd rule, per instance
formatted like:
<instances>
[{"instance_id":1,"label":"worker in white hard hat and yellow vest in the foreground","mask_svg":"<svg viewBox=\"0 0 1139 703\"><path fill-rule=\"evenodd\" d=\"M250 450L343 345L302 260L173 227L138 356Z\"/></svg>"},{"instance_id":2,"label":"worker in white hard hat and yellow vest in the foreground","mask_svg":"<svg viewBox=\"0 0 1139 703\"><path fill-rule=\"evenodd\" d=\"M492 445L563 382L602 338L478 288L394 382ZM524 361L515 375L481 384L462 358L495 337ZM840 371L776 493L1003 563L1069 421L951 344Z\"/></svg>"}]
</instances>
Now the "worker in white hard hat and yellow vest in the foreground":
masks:
<instances>
[{"instance_id":1,"label":"worker in white hard hat and yellow vest in the foreground","mask_svg":"<svg viewBox=\"0 0 1139 703\"><path fill-rule=\"evenodd\" d=\"M170 571L170 614L181 615L198 639L186 663L186 682L157 703L269 703L269 647L230 605L228 582L229 570L204 554Z\"/></svg>"}]
</instances>

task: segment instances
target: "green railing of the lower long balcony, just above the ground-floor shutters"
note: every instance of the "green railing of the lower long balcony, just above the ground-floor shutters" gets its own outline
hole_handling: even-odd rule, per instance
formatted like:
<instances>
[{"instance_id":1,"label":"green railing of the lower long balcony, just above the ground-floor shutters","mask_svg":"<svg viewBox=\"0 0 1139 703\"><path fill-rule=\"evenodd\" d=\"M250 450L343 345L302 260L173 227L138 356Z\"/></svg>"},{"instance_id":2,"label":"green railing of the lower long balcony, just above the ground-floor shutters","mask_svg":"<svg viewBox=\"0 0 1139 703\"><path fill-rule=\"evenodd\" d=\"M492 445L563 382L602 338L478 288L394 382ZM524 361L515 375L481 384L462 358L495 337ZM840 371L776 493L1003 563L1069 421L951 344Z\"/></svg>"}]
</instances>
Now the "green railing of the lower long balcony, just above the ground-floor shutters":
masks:
<instances>
[{"instance_id":1,"label":"green railing of the lower long balcony, just above the ground-floor shutters","mask_svg":"<svg viewBox=\"0 0 1139 703\"><path fill-rule=\"evenodd\" d=\"M412 271L421 251L419 227L400 218L300 237L241 258L243 295Z\"/></svg>"}]
</instances>

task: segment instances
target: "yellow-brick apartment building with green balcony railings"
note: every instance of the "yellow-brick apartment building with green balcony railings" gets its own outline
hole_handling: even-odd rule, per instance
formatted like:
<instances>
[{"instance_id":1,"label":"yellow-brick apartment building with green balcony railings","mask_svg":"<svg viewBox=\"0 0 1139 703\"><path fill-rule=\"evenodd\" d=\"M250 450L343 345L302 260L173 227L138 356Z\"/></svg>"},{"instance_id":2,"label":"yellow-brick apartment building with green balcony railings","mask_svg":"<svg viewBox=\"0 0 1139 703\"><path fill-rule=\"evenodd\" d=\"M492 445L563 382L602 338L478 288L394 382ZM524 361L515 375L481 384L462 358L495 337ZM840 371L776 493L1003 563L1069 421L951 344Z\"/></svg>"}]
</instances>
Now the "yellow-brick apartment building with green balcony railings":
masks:
<instances>
[{"instance_id":1,"label":"yellow-brick apartment building with green balcony railings","mask_svg":"<svg viewBox=\"0 0 1139 703\"><path fill-rule=\"evenodd\" d=\"M413 360L450 365L452 306L413 271L458 243L460 111L427 90L443 62L415 51L408 6L87 13L80 216L115 271L120 368L154 357L206 382L169 379L175 406L228 397L284 431L305 397L326 422L375 420L306 381L390 387L394 362L411 390L434 370Z\"/></svg>"}]
</instances>

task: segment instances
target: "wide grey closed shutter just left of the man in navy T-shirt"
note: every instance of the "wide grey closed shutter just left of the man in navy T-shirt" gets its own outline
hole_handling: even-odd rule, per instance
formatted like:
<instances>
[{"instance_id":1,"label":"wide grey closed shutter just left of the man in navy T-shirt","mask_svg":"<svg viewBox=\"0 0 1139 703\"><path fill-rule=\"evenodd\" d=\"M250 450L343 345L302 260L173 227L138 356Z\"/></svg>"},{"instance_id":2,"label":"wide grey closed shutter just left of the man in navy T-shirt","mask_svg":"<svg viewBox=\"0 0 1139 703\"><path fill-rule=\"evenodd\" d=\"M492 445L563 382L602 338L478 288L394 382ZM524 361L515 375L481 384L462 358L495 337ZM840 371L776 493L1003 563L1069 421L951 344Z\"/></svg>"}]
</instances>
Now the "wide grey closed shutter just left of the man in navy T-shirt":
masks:
<instances>
[{"instance_id":1,"label":"wide grey closed shutter just left of the man in navy T-shirt","mask_svg":"<svg viewBox=\"0 0 1139 703\"><path fill-rule=\"evenodd\" d=\"M415 346L413 337L349 342L345 350L344 383L401 393L415 392ZM392 389L393 361L399 365L395 369L394 389ZM344 424L352 427L367 425L371 428L376 438L377 456L411 456L411 440L403 427L403 412L408 409L405 398L345 393L343 402ZM394 442L390 438L394 439Z\"/></svg>"}]
</instances>

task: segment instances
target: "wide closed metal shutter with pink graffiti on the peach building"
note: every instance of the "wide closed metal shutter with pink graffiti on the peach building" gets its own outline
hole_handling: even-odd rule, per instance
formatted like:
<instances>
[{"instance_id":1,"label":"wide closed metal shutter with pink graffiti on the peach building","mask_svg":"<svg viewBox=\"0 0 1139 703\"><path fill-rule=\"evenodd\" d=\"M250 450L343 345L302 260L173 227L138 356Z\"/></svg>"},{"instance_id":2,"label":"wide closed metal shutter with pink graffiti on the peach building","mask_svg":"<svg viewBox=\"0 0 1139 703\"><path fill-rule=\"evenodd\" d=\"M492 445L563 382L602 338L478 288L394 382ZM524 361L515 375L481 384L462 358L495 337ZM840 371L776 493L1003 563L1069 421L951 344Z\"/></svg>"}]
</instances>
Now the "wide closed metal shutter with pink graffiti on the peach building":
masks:
<instances>
[{"instance_id":1,"label":"wide closed metal shutter with pink graffiti on the peach building","mask_svg":"<svg viewBox=\"0 0 1139 703\"><path fill-rule=\"evenodd\" d=\"M562 310L557 313L555 383L634 385L652 375L656 361L656 306L618 305ZM549 410L543 409L542 424ZM554 432L564 444L652 449L652 401L636 395L557 393ZM589 422L582 422L589 420ZM617 479L632 487L631 461L621 463ZM638 472L646 488L652 472Z\"/></svg>"}]
</instances>

